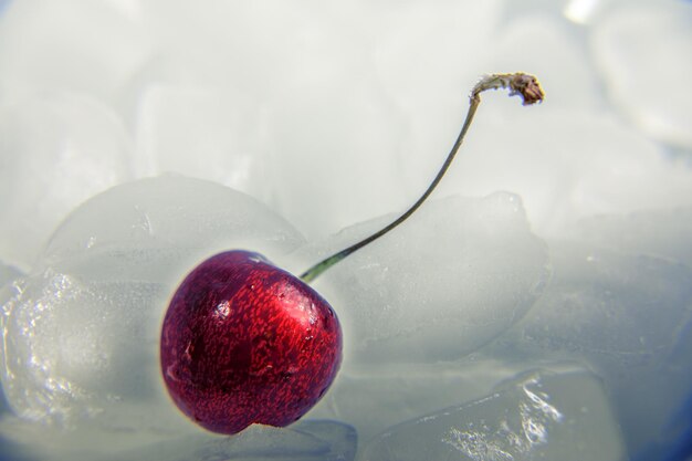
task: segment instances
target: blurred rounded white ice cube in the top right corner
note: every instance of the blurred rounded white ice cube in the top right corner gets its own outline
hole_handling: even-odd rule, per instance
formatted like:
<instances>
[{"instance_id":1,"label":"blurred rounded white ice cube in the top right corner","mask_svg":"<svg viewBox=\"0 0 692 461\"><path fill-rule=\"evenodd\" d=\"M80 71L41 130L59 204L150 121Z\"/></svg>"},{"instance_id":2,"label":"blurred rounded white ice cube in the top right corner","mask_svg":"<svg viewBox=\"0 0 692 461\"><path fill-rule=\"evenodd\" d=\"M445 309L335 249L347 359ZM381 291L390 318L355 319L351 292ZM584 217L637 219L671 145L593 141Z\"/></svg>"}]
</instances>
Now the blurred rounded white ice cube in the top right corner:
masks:
<instances>
[{"instance_id":1,"label":"blurred rounded white ice cube in the top right corner","mask_svg":"<svg viewBox=\"0 0 692 461\"><path fill-rule=\"evenodd\" d=\"M597 24L590 46L620 109L647 134L688 149L692 88L678 78L692 73L691 21L689 1L622 2Z\"/></svg>"}]
</instances>

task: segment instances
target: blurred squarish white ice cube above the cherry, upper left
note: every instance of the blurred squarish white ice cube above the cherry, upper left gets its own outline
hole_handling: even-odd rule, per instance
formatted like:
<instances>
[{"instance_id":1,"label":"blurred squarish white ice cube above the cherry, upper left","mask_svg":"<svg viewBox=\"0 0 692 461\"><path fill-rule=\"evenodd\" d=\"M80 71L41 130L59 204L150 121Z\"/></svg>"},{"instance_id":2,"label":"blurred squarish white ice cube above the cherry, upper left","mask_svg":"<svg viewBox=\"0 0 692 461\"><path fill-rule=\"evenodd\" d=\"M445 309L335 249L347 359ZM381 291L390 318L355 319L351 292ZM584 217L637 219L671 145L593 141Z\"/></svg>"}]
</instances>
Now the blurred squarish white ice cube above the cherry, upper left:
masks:
<instances>
[{"instance_id":1,"label":"blurred squarish white ice cube above the cherry, upper left","mask_svg":"<svg viewBox=\"0 0 692 461\"><path fill-rule=\"evenodd\" d=\"M151 71L154 72L154 71ZM262 196L266 122L240 93L200 84L133 83L136 151L144 170L213 180Z\"/></svg>"}]
</instances>

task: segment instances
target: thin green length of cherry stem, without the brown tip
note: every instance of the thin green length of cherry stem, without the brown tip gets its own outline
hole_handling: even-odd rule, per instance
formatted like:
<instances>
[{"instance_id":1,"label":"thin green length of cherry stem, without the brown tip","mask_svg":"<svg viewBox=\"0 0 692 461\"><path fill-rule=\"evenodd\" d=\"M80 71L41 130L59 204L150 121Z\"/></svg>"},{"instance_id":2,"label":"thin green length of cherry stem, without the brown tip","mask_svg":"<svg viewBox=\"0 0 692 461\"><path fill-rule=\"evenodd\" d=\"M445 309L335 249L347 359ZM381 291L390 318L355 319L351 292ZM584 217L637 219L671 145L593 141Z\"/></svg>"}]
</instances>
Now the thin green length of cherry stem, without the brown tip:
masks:
<instances>
[{"instance_id":1,"label":"thin green length of cherry stem, without the brown tip","mask_svg":"<svg viewBox=\"0 0 692 461\"><path fill-rule=\"evenodd\" d=\"M428 199L430 193L432 193L434 188L438 187L438 184L440 184L440 180L442 179L442 177L444 176L444 174L449 169L450 165L452 164L452 160L454 159L454 156L459 151L459 148L461 147L461 144L464 140L464 136L466 135L466 132L469 130L469 127L471 126L471 122L473 122L473 116L475 115L475 111L479 107L479 104L481 103L481 98L479 97L479 93L480 92L473 92L472 93L472 95L471 95L471 105L469 106L469 112L466 113L466 118L465 118L464 124L463 124L463 126L461 128L461 132L459 133L459 137L457 138L457 142L454 143L454 146L452 147L452 149L450 150L449 155L447 156L447 159L444 160L444 164L442 165L442 168L440 168L440 171L438 171L438 176L436 176L436 178L432 180L430 186L428 186L428 189L426 189L426 191L418 199L418 201L416 201L416 203L413 203L411 206L411 208L406 210L406 212L403 214L401 214L399 218L397 218L389 226L380 229L379 231L375 232L370 237L368 237L368 238L366 238L366 239L364 239L364 240L361 240L361 241L359 241L357 243L354 243L353 245L348 247L347 249L342 250L338 253L335 253L335 254L331 255L329 258L327 258L327 259L318 262L317 264L313 265L312 268L310 268L307 271L305 271L303 274L301 274L301 280L303 280L303 282L310 283L310 282L314 281L324 271L326 271L327 269L332 268L334 264L336 264L337 262L342 261L344 258L348 256L349 254L354 253L355 251L360 250L363 247L367 245L368 243L371 243L373 241L379 239L380 237L382 237L384 234L386 234L390 230L395 229L397 226L399 226L400 223L406 221L408 219L408 217L413 214L413 212L416 210L418 210L418 208L426 201L426 199Z\"/></svg>"}]
</instances>

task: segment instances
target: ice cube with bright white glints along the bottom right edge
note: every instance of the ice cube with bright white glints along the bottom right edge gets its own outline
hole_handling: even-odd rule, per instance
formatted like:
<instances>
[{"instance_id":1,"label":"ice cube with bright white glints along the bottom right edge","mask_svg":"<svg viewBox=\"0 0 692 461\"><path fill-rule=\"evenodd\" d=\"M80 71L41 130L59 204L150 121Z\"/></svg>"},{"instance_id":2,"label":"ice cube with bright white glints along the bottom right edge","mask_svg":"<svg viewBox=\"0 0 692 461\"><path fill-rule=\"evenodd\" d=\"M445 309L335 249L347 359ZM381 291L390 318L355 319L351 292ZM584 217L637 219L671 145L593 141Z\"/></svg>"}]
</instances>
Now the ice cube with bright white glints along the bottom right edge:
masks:
<instances>
[{"instance_id":1,"label":"ice cube with bright white glints along the bottom right edge","mask_svg":"<svg viewBox=\"0 0 692 461\"><path fill-rule=\"evenodd\" d=\"M537 370L485 398L390 428L360 461L620 461L617 421L598 377Z\"/></svg>"}]
</instances>

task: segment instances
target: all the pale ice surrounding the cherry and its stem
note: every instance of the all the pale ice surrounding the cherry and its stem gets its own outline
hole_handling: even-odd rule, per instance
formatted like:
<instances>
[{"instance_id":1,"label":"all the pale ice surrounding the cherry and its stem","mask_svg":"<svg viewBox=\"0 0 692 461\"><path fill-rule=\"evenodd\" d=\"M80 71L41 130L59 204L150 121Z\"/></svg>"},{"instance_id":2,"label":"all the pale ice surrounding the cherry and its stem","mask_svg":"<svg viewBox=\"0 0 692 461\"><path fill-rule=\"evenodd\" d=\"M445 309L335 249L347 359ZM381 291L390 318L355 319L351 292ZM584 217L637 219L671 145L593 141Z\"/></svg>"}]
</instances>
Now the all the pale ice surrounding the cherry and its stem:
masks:
<instances>
[{"instance_id":1,"label":"all the pale ice surrounding the cherry and its stem","mask_svg":"<svg viewBox=\"0 0 692 461\"><path fill-rule=\"evenodd\" d=\"M0 458L689 459L691 25L683 0L0 0ZM417 220L316 284L346 356L307 421L186 426L156 344L191 264L301 271L376 230L517 71L545 102L484 93Z\"/></svg>"}]
</instances>

